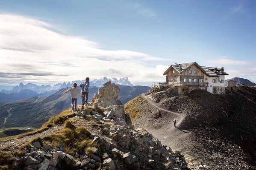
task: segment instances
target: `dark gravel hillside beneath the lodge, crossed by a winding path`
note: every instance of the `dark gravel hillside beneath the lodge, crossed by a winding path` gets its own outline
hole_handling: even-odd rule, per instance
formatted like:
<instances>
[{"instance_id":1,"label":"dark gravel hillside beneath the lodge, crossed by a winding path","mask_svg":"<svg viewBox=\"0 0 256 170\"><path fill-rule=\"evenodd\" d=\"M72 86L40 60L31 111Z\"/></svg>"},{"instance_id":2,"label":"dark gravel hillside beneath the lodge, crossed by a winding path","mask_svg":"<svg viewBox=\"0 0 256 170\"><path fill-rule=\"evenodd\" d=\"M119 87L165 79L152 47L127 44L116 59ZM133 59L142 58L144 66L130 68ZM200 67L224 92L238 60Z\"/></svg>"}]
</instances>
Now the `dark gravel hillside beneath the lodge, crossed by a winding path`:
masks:
<instances>
[{"instance_id":1,"label":"dark gravel hillside beneath the lodge, crossed by a winding path","mask_svg":"<svg viewBox=\"0 0 256 170\"><path fill-rule=\"evenodd\" d=\"M213 170L256 169L256 88L238 86L225 95L195 90L179 96L175 91L154 88L139 96L146 102L135 106L141 111L135 127Z\"/></svg>"}]
</instances>

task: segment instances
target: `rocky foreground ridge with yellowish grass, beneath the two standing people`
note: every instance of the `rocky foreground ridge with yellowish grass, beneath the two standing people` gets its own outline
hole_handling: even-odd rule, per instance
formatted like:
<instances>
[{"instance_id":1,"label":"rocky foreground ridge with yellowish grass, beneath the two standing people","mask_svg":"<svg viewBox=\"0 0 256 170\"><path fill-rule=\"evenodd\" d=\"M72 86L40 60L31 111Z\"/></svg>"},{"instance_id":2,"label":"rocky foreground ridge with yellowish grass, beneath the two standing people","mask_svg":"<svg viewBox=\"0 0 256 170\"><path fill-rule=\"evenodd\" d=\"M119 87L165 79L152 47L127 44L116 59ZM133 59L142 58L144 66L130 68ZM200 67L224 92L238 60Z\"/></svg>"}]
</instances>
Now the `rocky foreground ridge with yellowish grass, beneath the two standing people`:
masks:
<instances>
[{"instance_id":1,"label":"rocky foreground ridge with yellowish grass, beneath the two standing people","mask_svg":"<svg viewBox=\"0 0 256 170\"><path fill-rule=\"evenodd\" d=\"M114 89L115 84L107 86ZM108 98L103 96L98 96L97 101L106 103ZM63 126L46 136L35 139L31 136L29 143L24 143L24 138L0 142L0 154L5 156L15 155L15 148L23 146L20 147L22 154L16 154L10 162L0 159L0 167L13 170L188 169L182 153L162 144L147 130L134 129L123 105L102 107L98 104L89 103L82 111L59 117L56 123L59 126L65 121ZM55 127L48 123L47 127ZM89 145L85 147L85 144ZM199 167L204 168L201 164Z\"/></svg>"}]
</instances>

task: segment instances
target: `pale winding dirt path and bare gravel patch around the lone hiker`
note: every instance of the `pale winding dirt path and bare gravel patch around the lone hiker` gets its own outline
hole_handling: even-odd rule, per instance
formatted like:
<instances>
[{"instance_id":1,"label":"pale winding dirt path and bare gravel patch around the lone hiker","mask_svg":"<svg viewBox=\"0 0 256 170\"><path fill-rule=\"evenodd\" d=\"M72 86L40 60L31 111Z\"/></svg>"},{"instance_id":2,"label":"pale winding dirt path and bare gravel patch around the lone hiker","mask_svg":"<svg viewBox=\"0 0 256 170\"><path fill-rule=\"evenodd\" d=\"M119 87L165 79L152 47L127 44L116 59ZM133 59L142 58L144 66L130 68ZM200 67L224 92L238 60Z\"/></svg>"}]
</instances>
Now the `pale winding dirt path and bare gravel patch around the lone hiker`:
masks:
<instances>
[{"instance_id":1,"label":"pale winding dirt path and bare gravel patch around the lone hiker","mask_svg":"<svg viewBox=\"0 0 256 170\"><path fill-rule=\"evenodd\" d=\"M144 94L141 94L141 97L145 99L150 104L151 108L155 109L155 111L162 111L162 119L154 121L150 119L150 117L152 118L152 115L148 114L146 118L147 121L138 121L135 122L135 124L137 124L137 126L144 127L146 130L152 133L154 137L158 138L162 144L170 146L173 150L180 150L184 152L186 147L189 147L189 136L191 136L191 132L188 130L183 130L179 127L179 124L182 123L185 116L159 107ZM174 118L177 119L176 127L174 127L173 124ZM145 117L142 119L145 119Z\"/></svg>"}]
</instances>

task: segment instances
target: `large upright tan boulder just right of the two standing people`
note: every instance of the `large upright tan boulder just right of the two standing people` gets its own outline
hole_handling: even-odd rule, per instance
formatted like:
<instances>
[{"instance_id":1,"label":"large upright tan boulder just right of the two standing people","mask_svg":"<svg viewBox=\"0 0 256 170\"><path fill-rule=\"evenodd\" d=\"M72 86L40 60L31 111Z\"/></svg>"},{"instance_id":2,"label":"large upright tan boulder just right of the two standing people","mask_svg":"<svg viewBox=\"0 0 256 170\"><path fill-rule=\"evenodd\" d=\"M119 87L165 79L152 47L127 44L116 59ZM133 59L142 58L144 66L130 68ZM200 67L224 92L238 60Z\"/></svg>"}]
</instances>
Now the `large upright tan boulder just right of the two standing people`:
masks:
<instances>
[{"instance_id":1,"label":"large upright tan boulder just right of the two standing people","mask_svg":"<svg viewBox=\"0 0 256 170\"><path fill-rule=\"evenodd\" d=\"M122 105L121 101L118 100L119 92L120 88L109 81L103 84L103 87L99 88L98 94L94 94L91 101L104 108L109 105Z\"/></svg>"}]
</instances>

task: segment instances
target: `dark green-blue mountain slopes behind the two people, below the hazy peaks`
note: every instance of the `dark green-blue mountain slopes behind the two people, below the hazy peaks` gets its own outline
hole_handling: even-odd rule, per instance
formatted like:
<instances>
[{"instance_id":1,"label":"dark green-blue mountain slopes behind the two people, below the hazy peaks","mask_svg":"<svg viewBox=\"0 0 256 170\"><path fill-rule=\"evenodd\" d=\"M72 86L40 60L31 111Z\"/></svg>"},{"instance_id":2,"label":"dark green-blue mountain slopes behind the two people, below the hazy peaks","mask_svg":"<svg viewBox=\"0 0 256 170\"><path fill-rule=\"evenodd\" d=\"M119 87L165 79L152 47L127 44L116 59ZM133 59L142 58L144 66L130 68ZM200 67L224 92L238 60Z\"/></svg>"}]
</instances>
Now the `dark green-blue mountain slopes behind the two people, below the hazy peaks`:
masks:
<instances>
[{"instance_id":1,"label":"dark green-blue mountain slopes behind the two people, below the hazy peaks","mask_svg":"<svg viewBox=\"0 0 256 170\"><path fill-rule=\"evenodd\" d=\"M118 99L121 100L122 104L125 104L139 94L146 93L150 89L150 87L147 86L118 86L120 88ZM91 102L94 93L98 93L98 89L99 87L89 88L88 102ZM40 127L44 122L49 120L50 116L56 116L56 114L59 114L63 110L71 108L70 93L64 94L66 90L68 90L68 88L62 88L50 96L34 96L17 101L0 103L0 128ZM79 90L81 90L80 87ZM23 90L18 94L24 92L36 95L35 92L30 90ZM12 95L13 94L14 93L12 93ZM80 97L77 102L79 105L81 104Z\"/></svg>"}]
</instances>

